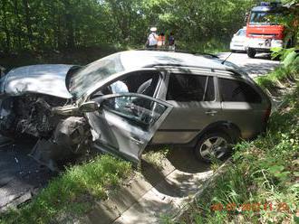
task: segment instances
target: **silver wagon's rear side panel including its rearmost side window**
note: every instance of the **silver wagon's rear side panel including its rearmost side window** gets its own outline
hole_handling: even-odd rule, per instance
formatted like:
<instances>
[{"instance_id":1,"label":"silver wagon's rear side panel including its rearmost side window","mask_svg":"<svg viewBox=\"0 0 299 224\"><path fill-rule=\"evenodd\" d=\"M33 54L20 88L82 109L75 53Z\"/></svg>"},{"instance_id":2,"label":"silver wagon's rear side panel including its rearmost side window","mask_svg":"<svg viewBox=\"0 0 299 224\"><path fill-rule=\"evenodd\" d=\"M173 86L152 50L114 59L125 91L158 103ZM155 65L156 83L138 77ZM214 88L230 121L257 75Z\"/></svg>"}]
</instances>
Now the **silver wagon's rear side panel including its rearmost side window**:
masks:
<instances>
[{"instance_id":1,"label":"silver wagon's rear side panel including its rearmost side window","mask_svg":"<svg viewBox=\"0 0 299 224\"><path fill-rule=\"evenodd\" d=\"M218 75L222 115L241 130L242 138L251 138L265 128L265 116L271 104L258 89L244 79Z\"/></svg>"}]
</instances>

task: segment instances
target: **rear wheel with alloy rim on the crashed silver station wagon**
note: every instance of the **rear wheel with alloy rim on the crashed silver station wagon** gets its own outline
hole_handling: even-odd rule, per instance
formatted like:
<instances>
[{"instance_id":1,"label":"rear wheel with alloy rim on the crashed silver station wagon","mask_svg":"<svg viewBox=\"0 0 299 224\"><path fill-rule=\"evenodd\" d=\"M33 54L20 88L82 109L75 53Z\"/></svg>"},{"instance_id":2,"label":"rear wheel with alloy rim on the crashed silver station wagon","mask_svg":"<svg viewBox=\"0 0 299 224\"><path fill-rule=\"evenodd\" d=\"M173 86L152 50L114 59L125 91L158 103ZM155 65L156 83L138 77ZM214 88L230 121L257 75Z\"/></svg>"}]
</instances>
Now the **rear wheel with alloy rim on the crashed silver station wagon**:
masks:
<instances>
[{"instance_id":1,"label":"rear wheel with alloy rim on the crashed silver station wagon","mask_svg":"<svg viewBox=\"0 0 299 224\"><path fill-rule=\"evenodd\" d=\"M194 152L199 161L211 163L213 160L223 160L231 153L232 139L226 133L214 132L202 136Z\"/></svg>"}]
</instances>

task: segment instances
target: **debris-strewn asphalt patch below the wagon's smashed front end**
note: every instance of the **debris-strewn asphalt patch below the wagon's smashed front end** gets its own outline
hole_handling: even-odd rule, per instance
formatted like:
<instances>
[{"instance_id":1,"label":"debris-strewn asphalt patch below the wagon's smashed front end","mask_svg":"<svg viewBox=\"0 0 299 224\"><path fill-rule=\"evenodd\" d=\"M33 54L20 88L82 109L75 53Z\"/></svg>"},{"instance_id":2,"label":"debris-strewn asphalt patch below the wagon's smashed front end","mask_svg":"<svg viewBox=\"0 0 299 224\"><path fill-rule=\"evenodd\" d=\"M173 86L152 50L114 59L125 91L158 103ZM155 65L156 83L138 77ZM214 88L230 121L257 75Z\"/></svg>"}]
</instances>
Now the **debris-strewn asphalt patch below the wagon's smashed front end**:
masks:
<instances>
[{"instance_id":1,"label":"debris-strewn asphalt patch below the wagon's smashed front end","mask_svg":"<svg viewBox=\"0 0 299 224\"><path fill-rule=\"evenodd\" d=\"M53 177L54 173L28 155L34 144L24 139L0 147L0 212L31 199Z\"/></svg>"}]
</instances>

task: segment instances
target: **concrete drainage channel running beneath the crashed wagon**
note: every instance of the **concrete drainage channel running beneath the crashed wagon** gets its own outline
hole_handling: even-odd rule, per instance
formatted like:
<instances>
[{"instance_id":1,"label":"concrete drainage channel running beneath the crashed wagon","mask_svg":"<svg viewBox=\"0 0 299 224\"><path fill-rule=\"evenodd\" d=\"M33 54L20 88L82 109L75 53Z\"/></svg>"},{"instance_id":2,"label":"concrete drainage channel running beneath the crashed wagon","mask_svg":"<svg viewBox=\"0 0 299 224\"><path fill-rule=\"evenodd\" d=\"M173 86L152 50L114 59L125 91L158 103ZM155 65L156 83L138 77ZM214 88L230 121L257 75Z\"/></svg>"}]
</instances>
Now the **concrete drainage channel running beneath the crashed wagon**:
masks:
<instances>
[{"instance_id":1,"label":"concrete drainage channel running beneath the crashed wagon","mask_svg":"<svg viewBox=\"0 0 299 224\"><path fill-rule=\"evenodd\" d=\"M211 171L209 165L199 163L188 148L171 149L160 167L142 162L140 173L120 191L73 222L159 223L165 215L178 215L218 173Z\"/></svg>"}]
</instances>

